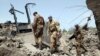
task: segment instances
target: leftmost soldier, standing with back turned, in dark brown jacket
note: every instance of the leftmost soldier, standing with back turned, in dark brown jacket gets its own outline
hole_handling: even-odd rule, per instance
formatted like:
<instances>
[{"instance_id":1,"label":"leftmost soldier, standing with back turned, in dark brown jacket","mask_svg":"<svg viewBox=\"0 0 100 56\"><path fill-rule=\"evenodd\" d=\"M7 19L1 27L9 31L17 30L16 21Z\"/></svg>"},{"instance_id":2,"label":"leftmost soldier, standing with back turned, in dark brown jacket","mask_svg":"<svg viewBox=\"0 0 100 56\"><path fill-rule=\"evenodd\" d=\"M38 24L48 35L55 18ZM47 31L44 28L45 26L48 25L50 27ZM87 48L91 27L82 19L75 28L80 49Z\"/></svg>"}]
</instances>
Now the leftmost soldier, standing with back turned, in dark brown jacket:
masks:
<instances>
[{"instance_id":1,"label":"leftmost soldier, standing with back turned, in dark brown jacket","mask_svg":"<svg viewBox=\"0 0 100 56\"><path fill-rule=\"evenodd\" d=\"M34 15L33 32L35 36L35 42L36 42L36 46L39 47L39 49L41 49L43 28L45 22L44 22L44 18L40 16L37 12L34 12L33 15Z\"/></svg>"}]
</instances>

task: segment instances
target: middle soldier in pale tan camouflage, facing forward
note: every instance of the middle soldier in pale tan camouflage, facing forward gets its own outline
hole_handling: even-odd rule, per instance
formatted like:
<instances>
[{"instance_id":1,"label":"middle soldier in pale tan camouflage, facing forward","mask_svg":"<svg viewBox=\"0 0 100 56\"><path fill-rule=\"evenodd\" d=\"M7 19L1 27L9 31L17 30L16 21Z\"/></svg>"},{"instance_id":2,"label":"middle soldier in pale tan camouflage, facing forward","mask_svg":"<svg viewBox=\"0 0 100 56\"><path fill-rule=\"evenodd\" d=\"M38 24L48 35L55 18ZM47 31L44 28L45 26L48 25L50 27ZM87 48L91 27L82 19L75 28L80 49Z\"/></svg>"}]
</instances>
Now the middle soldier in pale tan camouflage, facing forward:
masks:
<instances>
[{"instance_id":1,"label":"middle soldier in pale tan camouflage, facing forward","mask_svg":"<svg viewBox=\"0 0 100 56\"><path fill-rule=\"evenodd\" d=\"M57 51L57 39L58 39L58 32L59 32L59 24L52 19L52 16L48 17L48 32L50 35L50 51L51 53Z\"/></svg>"}]
</instances>

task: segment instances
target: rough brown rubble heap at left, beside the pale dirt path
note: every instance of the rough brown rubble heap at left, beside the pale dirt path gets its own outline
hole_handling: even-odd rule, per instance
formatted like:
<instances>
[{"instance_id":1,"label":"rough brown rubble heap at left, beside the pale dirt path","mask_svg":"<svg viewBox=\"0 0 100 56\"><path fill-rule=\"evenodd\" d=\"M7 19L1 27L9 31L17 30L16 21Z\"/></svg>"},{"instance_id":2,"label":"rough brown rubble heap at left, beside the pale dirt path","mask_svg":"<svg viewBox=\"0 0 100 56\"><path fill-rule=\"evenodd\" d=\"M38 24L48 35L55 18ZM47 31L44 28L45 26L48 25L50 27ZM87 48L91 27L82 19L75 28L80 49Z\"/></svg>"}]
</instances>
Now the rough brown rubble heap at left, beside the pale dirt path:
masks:
<instances>
[{"instance_id":1,"label":"rough brown rubble heap at left, beside the pale dirt path","mask_svg":"<svg viewBox=\"0 0 100 56\"><path fill-rule=\"evenodd\" d=\"M4 33L4 34L2 34ZM20 50L23 45L21 38L11 37L8 32L2 31L0 35L0 56L26 56L24 52Z\"/></svg>"}]
</instances>

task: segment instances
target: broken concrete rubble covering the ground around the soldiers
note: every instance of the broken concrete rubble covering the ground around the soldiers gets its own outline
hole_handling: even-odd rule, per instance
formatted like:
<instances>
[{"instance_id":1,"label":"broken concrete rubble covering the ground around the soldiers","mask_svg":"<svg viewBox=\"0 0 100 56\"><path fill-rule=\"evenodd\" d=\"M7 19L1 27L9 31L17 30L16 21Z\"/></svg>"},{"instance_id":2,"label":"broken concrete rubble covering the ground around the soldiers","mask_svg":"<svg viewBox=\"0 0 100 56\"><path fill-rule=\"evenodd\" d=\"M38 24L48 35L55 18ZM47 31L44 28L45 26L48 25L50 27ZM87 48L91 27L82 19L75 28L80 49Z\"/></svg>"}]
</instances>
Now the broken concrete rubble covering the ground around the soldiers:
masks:
<instances>
[{"instance_id":1,"label":"broken concrete rubble covering the ground around the soldiers","mask_svg":"<svg viewBox=\"0 0 100 56\"><path fill-rule=\"evenodd\" d=\"M96 31L89 30L85 35L83 45L88 51L83 53L82 56L100 56L100 50L98 49L99 40L95 33ZM71 34L62 36L58 47L60 51L54 54L50 53L48 47L43 50L37 49L33 46L33 43L24 41L26 34L22 36L0 36L0 56L76 56L76 48L73 46L75 40L69 41Z\"/></svg>"}]
</instances>

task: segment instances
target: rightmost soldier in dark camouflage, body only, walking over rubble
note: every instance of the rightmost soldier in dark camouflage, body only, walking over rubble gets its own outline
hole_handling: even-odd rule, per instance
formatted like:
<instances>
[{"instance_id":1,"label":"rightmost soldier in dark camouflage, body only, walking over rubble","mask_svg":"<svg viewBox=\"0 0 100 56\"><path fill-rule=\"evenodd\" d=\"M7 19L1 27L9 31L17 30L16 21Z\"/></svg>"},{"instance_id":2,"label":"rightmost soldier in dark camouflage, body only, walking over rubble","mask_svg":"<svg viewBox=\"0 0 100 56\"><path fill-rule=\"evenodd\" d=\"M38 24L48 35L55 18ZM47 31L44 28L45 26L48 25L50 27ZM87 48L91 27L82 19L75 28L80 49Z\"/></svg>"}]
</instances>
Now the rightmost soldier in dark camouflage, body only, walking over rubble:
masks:
<instances>
[{"instance_id":1,"label":"rightmost soldier in dark camouflage, body only, walking over rubble","mask_svg":"<svg viewBox=\"0 0 100 56\"><path fill-rule=\"evenodd\" d=\"M71 40L73 38L75 38L75 40L76 40L75 47L76 47L77 56L81 56L81 48L83 50L85 50L85 52L87 50L82 45L83 44L84 36L83 36L83 33L80 30L79 25L75 25L75 32L74 32L73 36L71 36L69 39Z\"/></svg>"}]
</instances>

